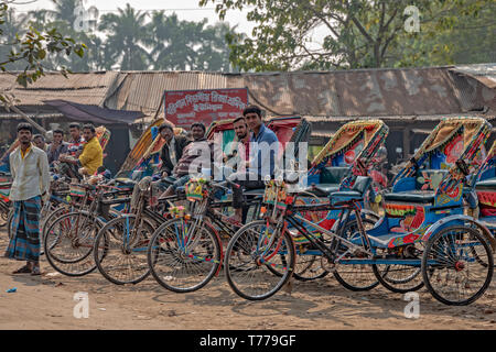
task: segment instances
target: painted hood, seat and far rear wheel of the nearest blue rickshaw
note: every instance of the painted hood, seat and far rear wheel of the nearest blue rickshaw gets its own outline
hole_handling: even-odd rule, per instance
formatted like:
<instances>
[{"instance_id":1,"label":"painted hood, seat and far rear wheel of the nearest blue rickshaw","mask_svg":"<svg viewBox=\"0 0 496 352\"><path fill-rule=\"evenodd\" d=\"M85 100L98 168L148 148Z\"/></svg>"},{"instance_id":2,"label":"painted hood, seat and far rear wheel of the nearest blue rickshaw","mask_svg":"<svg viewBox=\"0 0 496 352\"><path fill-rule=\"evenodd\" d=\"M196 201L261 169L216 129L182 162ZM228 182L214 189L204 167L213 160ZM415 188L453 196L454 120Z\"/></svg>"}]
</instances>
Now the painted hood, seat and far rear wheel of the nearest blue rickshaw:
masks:
<instances>
[{"instance_id":1,"label":"painted hood, seat and far rear wheel of the nearest blue rickshaw","mask_svg":"<svg viewBox=\"0 0 496 352\"><path fill-rule=\"evenodd\" d=\"M431 227L440 231L445 219L463 216L463 195L471 189L463 173L477 170L489 133L490 124L481 118L450 118L436 125L395 177L392 191L384 196L385 218L369 231L388 241L385 248L379 245L379 252L414 262L424 253ZM424 284L419 265L378 263L373 267L379 282L396 293Z\"/></svg>"}]
</instances>

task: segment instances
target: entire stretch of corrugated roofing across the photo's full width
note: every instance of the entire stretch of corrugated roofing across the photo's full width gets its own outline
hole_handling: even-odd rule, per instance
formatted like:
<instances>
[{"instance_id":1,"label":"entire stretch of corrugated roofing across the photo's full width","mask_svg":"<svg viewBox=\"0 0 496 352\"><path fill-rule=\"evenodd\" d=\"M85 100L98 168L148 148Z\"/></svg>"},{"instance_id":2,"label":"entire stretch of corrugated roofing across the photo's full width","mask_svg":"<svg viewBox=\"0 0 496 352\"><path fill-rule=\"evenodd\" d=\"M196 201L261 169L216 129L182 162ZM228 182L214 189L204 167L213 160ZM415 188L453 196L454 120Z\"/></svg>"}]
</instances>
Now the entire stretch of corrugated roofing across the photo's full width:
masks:
<instances>
[{"instance_id":1,"label":"entire stretch of corrugated roofing across the photo's full width","mask_svg":"<svg viewBox=\"0 0 496 352\"><path fill-rule=\"evenodd\" d=\"M46 74L28 89L14 89L22 105L65 99L109 109L158 111L165 90L244 88L272 116L323 119L442 117L496 113L496 90L483 84L496 64L335 72L222 74L203 72L103 72ZM0 74L0 89L14 77ZM163 110L163 107L162 109ZM163 111L159 111L159 116Z\"/></svg>"}]
</instances>

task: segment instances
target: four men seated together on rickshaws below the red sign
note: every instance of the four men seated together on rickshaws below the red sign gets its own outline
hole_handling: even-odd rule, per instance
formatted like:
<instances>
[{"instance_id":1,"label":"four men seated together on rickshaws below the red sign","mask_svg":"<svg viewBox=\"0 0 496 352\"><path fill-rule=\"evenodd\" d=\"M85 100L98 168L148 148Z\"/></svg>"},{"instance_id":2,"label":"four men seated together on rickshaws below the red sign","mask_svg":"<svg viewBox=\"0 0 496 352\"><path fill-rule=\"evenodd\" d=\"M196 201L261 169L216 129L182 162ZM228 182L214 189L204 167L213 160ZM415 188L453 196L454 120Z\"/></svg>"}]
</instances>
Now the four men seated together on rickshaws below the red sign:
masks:
<instances>
[{"instance_id":1,"label":"four men seated together on rickshaws below the red sign","mask_svg":"<svg viewBox=\"0 0 496 352\"><path fill-rule=\"evenodd\" d=\"M229 158L237 158L236 165L241 165L231 170L225 165L215 165L214 141L206 141L205 125L194 123L192 125L193 141L190 142L183 136L175 136L172 124L164 123L159 128L159 132L165 140L161 151L162 166L160 169L162 188L165 189L163 197L175 194L176 189L184 186L195 174L203 174L201 168L209 169L213 176L215 167L223 167L223 175L233 185L233 208L235 215L227 219L233 224L240 226L242 222L242 205L245 204L244 190L263 188L263 179L267 175L273 176L276 157L278 153L278 138L262 122L262 112L257 106L249 106L242 111L242 116L233 122L238 147L234 153L224 157L224 162ZM251 147L250 147L251 146ZM268 150L263 151L263 147ZM201 153L198 151L209 151L209 165L195 163ZM205 155L203 155L205 157ZM192 167L193 165L193 167ZM197 165L197 166L196 166ZM203 166L203 167L202 167ZM225 172L227 170L228 172Z\"/></svg>"}]
</instances>

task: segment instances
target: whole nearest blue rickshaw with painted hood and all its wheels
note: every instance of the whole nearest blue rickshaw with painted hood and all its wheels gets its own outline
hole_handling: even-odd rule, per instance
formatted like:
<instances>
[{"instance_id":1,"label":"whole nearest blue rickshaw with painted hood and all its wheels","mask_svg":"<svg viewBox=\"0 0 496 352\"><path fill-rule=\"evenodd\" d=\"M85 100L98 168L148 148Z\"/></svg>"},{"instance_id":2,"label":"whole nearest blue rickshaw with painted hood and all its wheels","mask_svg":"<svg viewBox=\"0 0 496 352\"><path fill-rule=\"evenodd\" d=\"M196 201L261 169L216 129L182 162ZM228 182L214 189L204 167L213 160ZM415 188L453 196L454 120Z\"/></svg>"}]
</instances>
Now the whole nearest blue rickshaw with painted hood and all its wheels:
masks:
<instances>
[{"instance_id":1,"label":"whole nearest blue rickshaw with painted hood and all its wheels","mask_svg":"<svg viewBox=\"0 0 496 352\"><path fill-rule=\"evenodd\" d=\"M241 228L227 248L224 267L230 287L254 300L277 293L295 267L296 249L288 231L292 226L321 250L327 271L369 265L376 278L395 292L420 288L414 279L421 276L441 302L475 301L490 284L496 242L477 220L463 215L462 195L489 133L490 124L481 118L444 119L396 178L392 193L385 195L385 216L369 230L359 204L370 177L355 177L351 189L333 193L328 205L317 206L294 206L295 196L283 180L269 182L265 199L272 201L266 201L265 219ZM354 169L359 164L357 160ZM432 176L440 170L436 180ZM324 229L299 215L327 209L343 210L337 228ZM358 231L343 231L352 213ZM398 267L411 270L398 275Z\"/></svg>"}]
</instances>

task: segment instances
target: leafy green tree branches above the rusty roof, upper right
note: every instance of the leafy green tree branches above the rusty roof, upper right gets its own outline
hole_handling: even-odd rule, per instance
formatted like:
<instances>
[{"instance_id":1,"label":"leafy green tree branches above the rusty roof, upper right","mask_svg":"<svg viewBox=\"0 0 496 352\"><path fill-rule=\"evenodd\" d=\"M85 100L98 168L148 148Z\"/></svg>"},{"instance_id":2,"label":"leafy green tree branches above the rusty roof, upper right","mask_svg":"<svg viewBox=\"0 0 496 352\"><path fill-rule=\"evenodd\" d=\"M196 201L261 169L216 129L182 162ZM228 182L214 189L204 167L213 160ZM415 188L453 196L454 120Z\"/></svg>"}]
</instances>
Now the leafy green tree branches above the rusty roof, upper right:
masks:
<instances>
[{"instance_id":1,"label":"leafy green tree branches above the rusty roof, upper right","mask_svg":"<svg viewBox=\"0 0 496 352\"><path fill-rule=\"evenodd\" d=\"M245 70L289 70L413 65L410 47L450 31L456 16L477 16L489 0L417 0L421 31L405 31L410 0L200 0L216 4L220 19L229 10L246 10L256 26L251 37L233 36L230 61ZM494 13L494 12L493 12ZM494 18L494 15L493 15ZM425 24L425 25L424 25ZM312 42L325 30L321 43ZM401 53L405 55L401 56Z\"/></svg>"}]
</instances>

